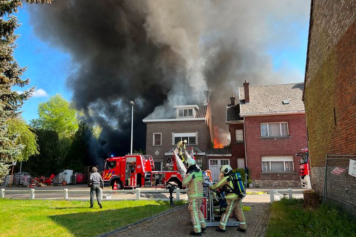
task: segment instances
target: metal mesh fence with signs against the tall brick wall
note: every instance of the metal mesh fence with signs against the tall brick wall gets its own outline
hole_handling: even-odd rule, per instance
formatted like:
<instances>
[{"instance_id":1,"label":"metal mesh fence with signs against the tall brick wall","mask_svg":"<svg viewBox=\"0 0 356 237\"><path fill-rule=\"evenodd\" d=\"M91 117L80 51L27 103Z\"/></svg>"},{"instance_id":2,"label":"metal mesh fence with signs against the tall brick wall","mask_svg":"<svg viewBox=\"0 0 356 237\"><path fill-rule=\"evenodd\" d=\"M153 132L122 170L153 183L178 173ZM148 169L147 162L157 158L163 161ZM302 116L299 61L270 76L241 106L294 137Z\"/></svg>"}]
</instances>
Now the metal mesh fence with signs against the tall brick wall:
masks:
<instances>
[{"instance_id":1,"label":"metal mesh fence with signs against the tall brick wall","mask_svg":"<svg viewBox=\"0 0 356 237\"><path fill-rule=\"evenodd\" d=\"M323 202L334 205L356 219L356 177L349 175L350 160L356 155L327 155Z\"/></svg>"}]
</instances>

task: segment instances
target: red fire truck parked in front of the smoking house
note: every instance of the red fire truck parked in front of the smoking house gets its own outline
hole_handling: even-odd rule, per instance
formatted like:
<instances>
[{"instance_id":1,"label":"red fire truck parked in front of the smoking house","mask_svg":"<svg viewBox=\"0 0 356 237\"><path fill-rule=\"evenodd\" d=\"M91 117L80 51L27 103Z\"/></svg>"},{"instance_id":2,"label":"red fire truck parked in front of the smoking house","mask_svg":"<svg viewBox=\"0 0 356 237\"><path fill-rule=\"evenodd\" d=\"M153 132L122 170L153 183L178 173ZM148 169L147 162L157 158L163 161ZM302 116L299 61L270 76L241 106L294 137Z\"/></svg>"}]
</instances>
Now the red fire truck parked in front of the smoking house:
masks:
<instances>
[{"instance_id":1,"label":"red fire truck parked in front of the smoking house","mask_svg":"<svg viewBox=\"0 0 356 237\"><path fill-rule=\"evenodd\" d=\"M182 176L172 159L173 171L155 171L150 155L132 154L124 157L110 157L105 161L102 173L104 186L117 189L135 187L165 187L174 181L182 188Z\"/></svg>"}]
</instances>

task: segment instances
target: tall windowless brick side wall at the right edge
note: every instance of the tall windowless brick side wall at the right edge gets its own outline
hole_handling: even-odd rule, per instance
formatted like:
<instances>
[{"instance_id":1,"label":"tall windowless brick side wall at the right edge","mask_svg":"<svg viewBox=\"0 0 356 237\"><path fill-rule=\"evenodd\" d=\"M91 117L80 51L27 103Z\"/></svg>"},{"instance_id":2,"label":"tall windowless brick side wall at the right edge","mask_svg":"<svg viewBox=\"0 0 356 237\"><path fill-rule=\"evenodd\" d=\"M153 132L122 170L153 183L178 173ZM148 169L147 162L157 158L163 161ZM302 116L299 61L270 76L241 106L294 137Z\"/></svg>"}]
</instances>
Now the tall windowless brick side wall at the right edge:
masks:
<instances>
[{"instance_id":1,"label":"tall windowless brick side wall at the right edge","mask_svg":"<svg viewBox=\"0 0 356 237\"><path fill-rule=\"evenodd\" d=\"M355 1L311 1L303 100L311 183L320 196L327 154L356 155L355 24ZM346 172L329 177L338 179L328 179L338 185L328 190L351 209L350 204L356 202L356 186L352 185L356 178L348 175L349 160L347 164L341 161L334 165L344 167Z\"/></svg>"}]
</instances>

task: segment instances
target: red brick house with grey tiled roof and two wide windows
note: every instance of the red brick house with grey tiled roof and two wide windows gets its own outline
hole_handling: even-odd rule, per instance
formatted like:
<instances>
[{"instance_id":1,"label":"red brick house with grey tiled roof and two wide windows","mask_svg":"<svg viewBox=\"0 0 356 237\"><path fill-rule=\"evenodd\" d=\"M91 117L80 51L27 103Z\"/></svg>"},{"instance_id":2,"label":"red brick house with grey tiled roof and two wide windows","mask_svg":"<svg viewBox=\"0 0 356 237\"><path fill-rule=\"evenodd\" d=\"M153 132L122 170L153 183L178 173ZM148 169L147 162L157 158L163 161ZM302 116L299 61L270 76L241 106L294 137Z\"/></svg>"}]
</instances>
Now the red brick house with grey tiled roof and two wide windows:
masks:
<instances>
[{"instance_id":1,"label":"red brick house with grey tiled roof and two wide windows","mask_svg":"<svg viewBox=\"0 0 356 237\"><path fill-rule=\"evenodd\" d=\"M301 186L295 154L307 147L303 89L304 83L249 87L246 81L239 103L230 98L232 159L238 167L246 162L256 187Z\"/></svg>"}]
</instances>

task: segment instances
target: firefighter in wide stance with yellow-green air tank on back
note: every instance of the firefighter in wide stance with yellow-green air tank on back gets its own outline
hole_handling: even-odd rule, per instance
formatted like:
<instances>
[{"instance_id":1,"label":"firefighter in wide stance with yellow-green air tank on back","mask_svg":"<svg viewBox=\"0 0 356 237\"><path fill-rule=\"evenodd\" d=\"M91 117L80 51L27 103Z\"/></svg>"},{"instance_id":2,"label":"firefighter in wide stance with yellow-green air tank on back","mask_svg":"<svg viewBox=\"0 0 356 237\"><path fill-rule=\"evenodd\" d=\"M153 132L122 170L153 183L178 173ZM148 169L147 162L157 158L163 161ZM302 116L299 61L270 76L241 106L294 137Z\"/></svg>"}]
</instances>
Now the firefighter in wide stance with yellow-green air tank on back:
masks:
<instances>
[{"instance_id":1,"label":"firefighter in wide stance with yellow-green air tank on back","mask_svg":"<svg viewBox=\"0 0 356 237\"><path fill-rule=\"evenodd\" d=\"M234 185L232 183L232 168L230 165L223 165L221 167L221 173L223 178L216 184L209 187L210 190L222 188L226 192L227 207L220 219L220 225L216 228L216 231L225 232L226 223L229 220L231 211L235 214L235 217L239 220L240 225L238 231L246 232L246 221L244 212L242 211L241 197L234 193Z\"/></svg>"}]
</instances>

